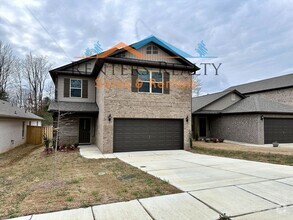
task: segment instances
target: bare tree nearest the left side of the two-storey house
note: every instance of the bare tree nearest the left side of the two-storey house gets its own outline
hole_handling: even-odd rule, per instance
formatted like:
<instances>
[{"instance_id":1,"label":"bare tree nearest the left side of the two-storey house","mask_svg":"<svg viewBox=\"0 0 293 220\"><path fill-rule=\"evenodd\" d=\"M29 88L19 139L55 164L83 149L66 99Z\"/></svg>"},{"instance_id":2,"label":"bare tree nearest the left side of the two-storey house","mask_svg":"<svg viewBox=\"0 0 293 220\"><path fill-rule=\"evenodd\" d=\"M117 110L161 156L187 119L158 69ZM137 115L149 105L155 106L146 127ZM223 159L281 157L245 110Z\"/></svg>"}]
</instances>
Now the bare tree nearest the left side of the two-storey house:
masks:
<instances>
[{"instance_id":1,"label":"bare tree nearest the left side of the two-storey house","mask_svg":"<svg viewBox=\"0 0 293 220\"><path fill-rule=\"evenodd\" d=\"M47 57L35 56L32 53L27 54L22 62L23 75L30 89L29 101L34 113L42 109L44 89L51 66Z\"/></svg>"}]
</instances>

